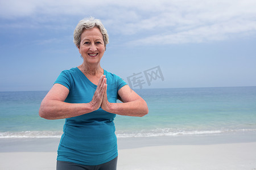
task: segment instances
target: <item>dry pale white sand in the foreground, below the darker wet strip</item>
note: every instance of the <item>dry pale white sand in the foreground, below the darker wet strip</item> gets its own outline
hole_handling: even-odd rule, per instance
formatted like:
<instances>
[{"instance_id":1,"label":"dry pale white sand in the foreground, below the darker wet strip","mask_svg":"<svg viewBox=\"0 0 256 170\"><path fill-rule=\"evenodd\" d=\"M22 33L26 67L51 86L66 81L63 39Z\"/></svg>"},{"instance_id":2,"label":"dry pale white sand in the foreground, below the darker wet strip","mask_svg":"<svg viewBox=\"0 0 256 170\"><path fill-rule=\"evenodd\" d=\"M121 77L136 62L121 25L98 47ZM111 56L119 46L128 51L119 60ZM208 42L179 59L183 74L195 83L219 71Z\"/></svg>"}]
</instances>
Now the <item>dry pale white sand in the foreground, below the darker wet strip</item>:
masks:
<instances>
[{"instance_id":1,"label":"dry pale white sand in the foreground, below the darker wet strip","mask_svg":"<svg viewBox=\"0 0 256 170\"><path fill-rule=\"evenodd\" d=\"M119 150L118 169L256 169L256 142ZM0 169L55 169L56 152L5 152Z\"/></svg>"}]
</instances>

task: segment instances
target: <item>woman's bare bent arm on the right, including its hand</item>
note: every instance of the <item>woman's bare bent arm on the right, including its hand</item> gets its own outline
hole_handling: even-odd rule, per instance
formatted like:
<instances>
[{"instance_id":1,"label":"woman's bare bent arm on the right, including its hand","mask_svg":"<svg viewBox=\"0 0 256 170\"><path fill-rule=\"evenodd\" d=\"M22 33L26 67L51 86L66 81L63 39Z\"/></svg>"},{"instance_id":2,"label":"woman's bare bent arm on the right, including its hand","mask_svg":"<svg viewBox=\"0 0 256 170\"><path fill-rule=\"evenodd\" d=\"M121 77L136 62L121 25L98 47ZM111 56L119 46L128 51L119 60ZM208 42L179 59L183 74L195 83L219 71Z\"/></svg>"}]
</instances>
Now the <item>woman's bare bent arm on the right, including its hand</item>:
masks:
<instances>
[{"instance_id":1,"label":"woman's bare bent arm on the right, including its hand","mask_svg":"<svg viewBox=\"0 0 256 170\"><path fill-rule=\"evenodd\" d=\"M131 90L128 85L123 86L118 91L118 95L121 97L123 103L109 103L105 90L101 108L107 112L120 114L123 116L142 117L148 113L146 101Z\"/></svg>"}]
</instances>

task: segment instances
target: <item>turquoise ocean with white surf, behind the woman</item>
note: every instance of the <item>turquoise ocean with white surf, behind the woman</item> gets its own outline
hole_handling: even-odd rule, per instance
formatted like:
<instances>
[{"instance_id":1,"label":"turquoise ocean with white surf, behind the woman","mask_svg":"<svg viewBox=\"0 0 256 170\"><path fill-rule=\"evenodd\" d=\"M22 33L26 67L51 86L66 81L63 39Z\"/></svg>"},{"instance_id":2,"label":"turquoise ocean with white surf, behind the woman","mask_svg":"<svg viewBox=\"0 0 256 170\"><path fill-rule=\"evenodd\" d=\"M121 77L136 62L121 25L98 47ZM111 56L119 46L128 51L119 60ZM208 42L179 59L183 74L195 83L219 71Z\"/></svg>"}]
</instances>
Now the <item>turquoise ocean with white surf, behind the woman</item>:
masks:
<instances>
[{"instance_id":1,"label":"turquoise ocean with white surf, behind the woman","mask_svg":"<svg viewBox=\"0 0 256 170\"><path fill-rule=\"evenodd\" d=\"M144 117L115 118L118 138L256 134L256 87L134 90ZM0 138L60 138L64 120L39 117L47 91L0 92Z\"/></svg>"}]
</instances>

